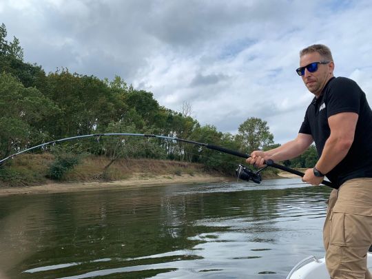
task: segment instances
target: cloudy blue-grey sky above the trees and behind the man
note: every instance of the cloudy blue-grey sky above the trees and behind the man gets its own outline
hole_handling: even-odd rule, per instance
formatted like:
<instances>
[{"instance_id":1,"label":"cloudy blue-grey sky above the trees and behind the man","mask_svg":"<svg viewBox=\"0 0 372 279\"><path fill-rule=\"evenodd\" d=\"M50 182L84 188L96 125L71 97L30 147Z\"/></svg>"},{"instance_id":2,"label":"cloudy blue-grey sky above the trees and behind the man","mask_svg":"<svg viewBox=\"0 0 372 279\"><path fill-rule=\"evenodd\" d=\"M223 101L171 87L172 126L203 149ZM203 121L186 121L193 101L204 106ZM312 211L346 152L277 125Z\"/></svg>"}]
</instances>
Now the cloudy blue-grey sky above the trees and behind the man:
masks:
<instances>
[{"instance_id":1,"label":"cloudy blue-grey sky above the trees and behind the man","mask_svg":"<svg viewBox=\"0 0 372 279\"><path fill-rule=\"evenodd\" d=\"M45 72L121 78L201 125L236 134L250 117L275 143L298 134L313 99L299 51L331 48L335 76L372 102L369 0L1 0L0 23Z\"/></svg>"}]
</instances>

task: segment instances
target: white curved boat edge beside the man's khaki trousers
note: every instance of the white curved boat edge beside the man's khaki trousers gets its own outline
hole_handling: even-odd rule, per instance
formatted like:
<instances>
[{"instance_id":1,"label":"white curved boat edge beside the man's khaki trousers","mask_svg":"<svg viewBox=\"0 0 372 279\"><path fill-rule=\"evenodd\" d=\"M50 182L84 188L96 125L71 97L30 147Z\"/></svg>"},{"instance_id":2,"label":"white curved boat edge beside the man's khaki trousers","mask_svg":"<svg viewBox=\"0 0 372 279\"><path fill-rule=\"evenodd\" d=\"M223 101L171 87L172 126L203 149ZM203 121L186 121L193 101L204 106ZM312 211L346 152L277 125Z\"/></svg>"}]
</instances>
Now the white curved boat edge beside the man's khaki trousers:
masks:
<instances>
[{"instance_id":1,"label":"white curved boat edge beside the man's khaki trousers","mask_svg":"<svg viewBox=\"0 0 372 279\"><path fill-rule=\"evenodd\" d=\"M367 267L372 271L372 253L367 253ZM304 258L293 267L287 279L329 279L325 259L318 259L316 256Z\"/></svg>"}]
</instances>

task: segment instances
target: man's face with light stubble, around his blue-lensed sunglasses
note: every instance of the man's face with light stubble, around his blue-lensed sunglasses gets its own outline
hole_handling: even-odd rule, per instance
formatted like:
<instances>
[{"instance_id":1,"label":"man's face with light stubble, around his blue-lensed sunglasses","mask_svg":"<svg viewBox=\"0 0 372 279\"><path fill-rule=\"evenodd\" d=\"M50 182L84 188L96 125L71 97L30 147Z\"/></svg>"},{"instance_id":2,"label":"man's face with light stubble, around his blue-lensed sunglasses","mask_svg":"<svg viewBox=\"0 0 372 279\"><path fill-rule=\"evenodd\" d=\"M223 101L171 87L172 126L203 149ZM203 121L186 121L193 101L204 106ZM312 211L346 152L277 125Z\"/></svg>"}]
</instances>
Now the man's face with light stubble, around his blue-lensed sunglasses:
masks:
<instances>
[{"instance_id":1,"label":"man's face with light stubble, around his blue-lensed sunglasses","mask_svg":"<svg viewBox=\"0 0 372 279\"><path fill-rule=\"evenodd\" d=\"M325 60L327 59L322 58L318 52L311 52L300 57L300 67ZM318 70L316 72L309 72L305 68L304 74L301 77L307 89L316 96L319 96L324 85L333 76L333 67L334 65L331 61L328 64L318 64Z\"/></svg>"}]
</instances>

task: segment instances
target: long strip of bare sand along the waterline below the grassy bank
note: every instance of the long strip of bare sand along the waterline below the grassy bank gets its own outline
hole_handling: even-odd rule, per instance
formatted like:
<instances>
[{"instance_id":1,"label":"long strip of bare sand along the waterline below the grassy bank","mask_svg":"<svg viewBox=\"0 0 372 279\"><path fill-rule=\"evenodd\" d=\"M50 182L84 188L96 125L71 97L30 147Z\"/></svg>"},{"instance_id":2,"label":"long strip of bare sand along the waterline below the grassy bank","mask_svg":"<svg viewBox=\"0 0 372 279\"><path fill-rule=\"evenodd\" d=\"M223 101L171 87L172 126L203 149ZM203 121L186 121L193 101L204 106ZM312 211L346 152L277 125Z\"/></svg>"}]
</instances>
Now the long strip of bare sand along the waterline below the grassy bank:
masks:
<instances>
[{"instance_id":1,"label":"long strip of bare sand along the waterline below the grassy bank","mask_svg":"<svg viewBox=\"0 0 372 279\"><path fill-rule=\"evenodd\" d=\"M223 176L211 176L209 174L182 174L182 175L159 175L143 176L137 174L132 178L112 182L81 182L81 183L48 183L30 187L4 187L0 188L0 196L14 194L44 194L81 192L97 189L133 189L138 187L150 187L153 185L186 184L186 183L213 183L231 181L231 178Z\"/></svg>"}]
</instances>

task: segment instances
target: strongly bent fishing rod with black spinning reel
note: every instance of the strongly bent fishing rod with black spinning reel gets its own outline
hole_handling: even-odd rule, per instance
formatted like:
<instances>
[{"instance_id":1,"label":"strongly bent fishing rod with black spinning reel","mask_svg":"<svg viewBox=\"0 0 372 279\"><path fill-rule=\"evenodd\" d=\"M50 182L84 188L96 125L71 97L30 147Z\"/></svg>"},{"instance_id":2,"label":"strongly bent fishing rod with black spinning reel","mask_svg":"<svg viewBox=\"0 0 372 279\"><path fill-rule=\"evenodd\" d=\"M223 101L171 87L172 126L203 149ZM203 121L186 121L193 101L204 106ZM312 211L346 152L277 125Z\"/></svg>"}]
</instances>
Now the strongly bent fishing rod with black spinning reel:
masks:
<instances>
[{"instance_id":1,"label":"strongly bent fishing rod with black spinning reel","mask_svg":"<svg viewBox=\"0 0 372 279\"><path fill-rule=\"evenodd\" d=\"M245 153L241 153L241 152L238 152L238 151L235 151L235 150L227 149L227 148L222 147L222 146L212 145L210 143L199 143L198 141L190 141L190 140L187 140L187 139L184 139L184 138L177 138L177 137L172 137L172 136L161 136L161 135L156 135L156 134L105 133L105 134L87 134L87 135L83 135L83 136L72 136L70 138L61 138L61 139L56 140L56 141L50 141L48 143L42 143L40 145L35 145L34 147L30 147L28 149L23 149L20 152L14 153L14 154L6 157L6 158L3 158L2 160L0 160L0 166L3 165L3 163L5 163L6 161L8 161L10 158L14 158L15 156L18 156L19 154L28 152L28 151L33 150L33 149L41 148L45 145L54 145L56 143L62 143L64 141L72 141L72 140L78 139L78 138L96 137L96 138L99 139L101 136L143 136L143 137L146 137L146 138L161 138L161 139L165 139L167 141L180 141L180 142L183 142L183 143L191 143L193 145L199 145L199 146L207 147L208 149L213 149L213 150L223 152L223 153L226 153L226 154L230 154L230 155L234 155L234 156L237 156L237 157L240 157L240 158L247 159L247 158L251 157L249 154L245 154ZM246 180L246 181L251 180L254 183L260 184L261 180L262 180L262 178L260 176L260 172L262 172L262 170L266 169L267 167L274 167L276 169L280 169L282 171L289 172L291 174L296 174L296 175L301 176L301 177L304 176L303 172L299 172L296 169L291 169L290 167L285 167L284 165L279 165L277 163L274 163L271 159L265 161L265 167L262 167L261 169L258 169L256 172L249 169L245 165L240 164L240 165L238 165L238 168L236 169L236 175L238 176L238 178L240 178L242 180ZM327 180L323 180L322 184L327 185L327 186L329 186L333 189L336 189L336 187L331 182L329 182Z\"/></svg>"}]
</instances>

